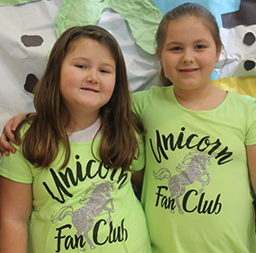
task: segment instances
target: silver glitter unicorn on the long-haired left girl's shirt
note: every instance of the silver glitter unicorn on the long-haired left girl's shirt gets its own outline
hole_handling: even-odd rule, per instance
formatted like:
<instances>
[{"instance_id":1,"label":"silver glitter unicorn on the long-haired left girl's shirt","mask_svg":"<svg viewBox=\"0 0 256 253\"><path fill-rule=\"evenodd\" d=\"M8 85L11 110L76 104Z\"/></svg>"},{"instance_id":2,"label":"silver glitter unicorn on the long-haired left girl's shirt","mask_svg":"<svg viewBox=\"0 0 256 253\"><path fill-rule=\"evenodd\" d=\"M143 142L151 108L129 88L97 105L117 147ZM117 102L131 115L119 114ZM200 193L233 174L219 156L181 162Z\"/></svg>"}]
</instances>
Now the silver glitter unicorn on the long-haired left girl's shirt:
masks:
<instances>
[{"instance_id":1,"label":"silver glitter unicorn on the long-haired left girl's shirt","mask_svg":"<svg viewBox=\"0 0 256 253\"><path fill-rule=\"evenodd\" d=\"M63 206L56 215L52 215L50 221L55 223L62 221L67 215L72 217L72 223L75 226L76 234L79 236L83 234L84 239L89 243L90 249L95 249L92 240L89 239L88 232L93 229L93 218L102 214L103 210L109 212L107 222L111 220L111 214L114 212L114 205L110 195L113 192L115 181L98 181L88 188L84 196L79 200L83 207L74 211L71 205ZM110 204L110 207L107 206Z\"/></svg>"}]
</instances>

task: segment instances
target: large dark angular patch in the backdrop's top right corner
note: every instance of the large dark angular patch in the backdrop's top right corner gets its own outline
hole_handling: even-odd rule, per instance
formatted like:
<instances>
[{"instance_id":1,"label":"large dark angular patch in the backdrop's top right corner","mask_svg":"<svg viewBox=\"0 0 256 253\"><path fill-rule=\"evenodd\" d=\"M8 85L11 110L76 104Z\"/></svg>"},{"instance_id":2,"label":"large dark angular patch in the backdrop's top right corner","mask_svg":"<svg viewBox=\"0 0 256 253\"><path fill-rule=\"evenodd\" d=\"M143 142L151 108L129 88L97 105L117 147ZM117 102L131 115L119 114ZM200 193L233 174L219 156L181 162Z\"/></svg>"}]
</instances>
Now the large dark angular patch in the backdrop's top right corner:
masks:
<instances>
[{"instance_id":1,"label":"large dark angular patch in the backdrop's top right corner","mask_svg":"<svg viewBox=\"0 0 256 253\"><path fill-rule=\"evenodd\" d=\"M221 15L224 28L231 28L238 25L256 24L256 3L255 0L241 0L240 8L234 13Z\"/></svg>"}]
</instances>

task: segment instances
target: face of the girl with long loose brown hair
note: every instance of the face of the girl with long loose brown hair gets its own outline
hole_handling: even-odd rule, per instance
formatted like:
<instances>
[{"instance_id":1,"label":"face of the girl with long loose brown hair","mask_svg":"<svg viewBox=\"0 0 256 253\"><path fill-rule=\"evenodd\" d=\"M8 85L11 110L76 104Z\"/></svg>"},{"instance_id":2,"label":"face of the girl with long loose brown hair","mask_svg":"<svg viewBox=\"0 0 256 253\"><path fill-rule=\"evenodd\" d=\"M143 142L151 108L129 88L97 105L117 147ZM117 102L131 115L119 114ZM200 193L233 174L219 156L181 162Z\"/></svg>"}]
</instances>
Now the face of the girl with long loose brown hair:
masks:
<instances>
[{"instance_id":1,"label":"face of the girl with long loose brown hair","mask_svg":"<svg viewBox=\"0 0 256 253\"><path fill-rule=\"evenodd\" d=\"M60 92L72 117L97 118L115 87L115 61L95 39L79 39L71 47L61 68Z\"/></svg>"}]
</instances>

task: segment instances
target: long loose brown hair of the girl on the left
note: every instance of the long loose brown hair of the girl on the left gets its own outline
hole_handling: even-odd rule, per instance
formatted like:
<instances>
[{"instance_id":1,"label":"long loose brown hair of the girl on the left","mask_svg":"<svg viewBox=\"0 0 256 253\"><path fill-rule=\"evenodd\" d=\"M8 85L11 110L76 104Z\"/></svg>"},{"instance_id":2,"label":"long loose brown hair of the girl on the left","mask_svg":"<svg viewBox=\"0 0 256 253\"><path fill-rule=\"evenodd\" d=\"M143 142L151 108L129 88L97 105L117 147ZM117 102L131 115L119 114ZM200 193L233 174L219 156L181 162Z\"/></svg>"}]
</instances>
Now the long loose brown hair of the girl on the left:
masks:
<instances>
[{"instance_id":1,"label":"long loose brown hair of the girl on the left","mask_svg":"<svg viewBox=\"0 0 256 253\"><path fill-rule=\"evenodd\" d=\"M36 113L22 121L15 135L21 142L21 127L26 122L30 124L22 136L22 153L36 168L48 169L56 159L59 144L62 143L65 161L60 169L66 167L70 158L66 135L70 115L60 92L60 72L64 58L75 47L75 41L83 38L95 39L108 48L116 63L114 91L108 103L100 109L102 140L96 156L112 169L129 170L138 151L135 130L142 134L143 127L130 109L127 69L119 44L108 31L98 26L69 28L57 39L45 73L35 88Z\"/></svg>"}]
</instances>

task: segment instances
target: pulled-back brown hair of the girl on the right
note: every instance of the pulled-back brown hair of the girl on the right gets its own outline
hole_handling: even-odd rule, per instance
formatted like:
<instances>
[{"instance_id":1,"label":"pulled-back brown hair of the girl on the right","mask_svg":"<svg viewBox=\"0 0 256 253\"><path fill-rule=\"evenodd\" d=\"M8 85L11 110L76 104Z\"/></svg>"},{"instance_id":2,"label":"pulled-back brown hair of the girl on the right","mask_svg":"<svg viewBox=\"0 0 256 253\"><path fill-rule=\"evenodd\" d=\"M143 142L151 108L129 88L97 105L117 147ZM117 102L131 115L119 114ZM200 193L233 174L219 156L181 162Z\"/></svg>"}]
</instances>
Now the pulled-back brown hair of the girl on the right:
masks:
<instances>
[{"instance_id":1,"label":"pulled-back brown hair of the girl on the right","mask_svg":"<svg viewBox=\"0 0 256 253\"><path fill-rule=\"evenodd\" d=\"M155 44L158 50L159 56L162 54L163 44L167 37L167 28L168 24L172 21L177 21L179 19L183 19L186 16L193 16L199 18L207 29L211 32L212 37L216 43L216 51L220 52L221 48L223 47L222 41L220 39L219 28L216 22L216 18L212 13L210 13L207 8L200 4L195 3L186 3L177 6L176 8L172 9L170 12L166 13L163 16L162 21L158 26L158 30L155 34ZM163 86L170 86L172 82L163 76L163 71L159 74L160 83Z\"/></svg>"}]
</instances>

